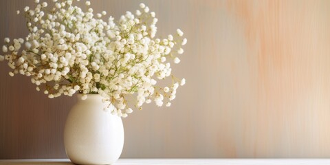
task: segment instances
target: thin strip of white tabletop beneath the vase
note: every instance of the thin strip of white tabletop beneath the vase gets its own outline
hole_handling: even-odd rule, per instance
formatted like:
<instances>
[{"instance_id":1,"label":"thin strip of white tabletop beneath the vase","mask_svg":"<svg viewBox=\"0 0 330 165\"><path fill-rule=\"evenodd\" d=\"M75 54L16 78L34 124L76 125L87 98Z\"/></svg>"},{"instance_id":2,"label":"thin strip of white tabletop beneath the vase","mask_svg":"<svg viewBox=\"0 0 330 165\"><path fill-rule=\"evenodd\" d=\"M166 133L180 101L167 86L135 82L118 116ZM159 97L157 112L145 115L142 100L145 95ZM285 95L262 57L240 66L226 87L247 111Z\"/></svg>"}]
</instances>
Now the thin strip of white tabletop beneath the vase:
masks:
<instances>
[{"instance_id":1,"label":"thin strip of white tabletop beneath the vase","mask_svg":"<svg viewBox=\"0 0 330 165\"><path fill-rule=\"evenodd\" d=\"M0 159L1 165L61 165L72 164L69 159ZM165 165L165 164L329 164L330 159L119 159L115 164L118 165Z\"/></svg>"}]
</instances>

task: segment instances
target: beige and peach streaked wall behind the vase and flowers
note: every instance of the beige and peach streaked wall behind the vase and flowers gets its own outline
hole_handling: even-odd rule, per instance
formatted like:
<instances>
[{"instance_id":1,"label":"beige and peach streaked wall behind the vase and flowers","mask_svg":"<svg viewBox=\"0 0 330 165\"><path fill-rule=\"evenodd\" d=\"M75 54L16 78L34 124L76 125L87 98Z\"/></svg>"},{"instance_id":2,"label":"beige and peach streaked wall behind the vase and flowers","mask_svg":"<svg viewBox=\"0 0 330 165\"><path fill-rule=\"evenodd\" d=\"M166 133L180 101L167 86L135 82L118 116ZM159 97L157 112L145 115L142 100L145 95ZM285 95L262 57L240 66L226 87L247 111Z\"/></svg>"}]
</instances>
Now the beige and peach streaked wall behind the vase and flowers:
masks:
<instances>
[{"instance_id":1,"label":"beige and peach streaked wall behind the vase and flowers","mask_svg":"<svg viewBox=\"0 0 330 165\"><path fill-rule=\"evenodd\" d=\"M140 1L92 1L118 18ZM0 1L0 39L26 34ZM170 108L124 119L122 157L329 157L330 1L144 1L158 36L188 38L174 72L187 80ZM47 99L0 63L0 159L65 157L75 98Z\"/></svg>"}]
</instances>

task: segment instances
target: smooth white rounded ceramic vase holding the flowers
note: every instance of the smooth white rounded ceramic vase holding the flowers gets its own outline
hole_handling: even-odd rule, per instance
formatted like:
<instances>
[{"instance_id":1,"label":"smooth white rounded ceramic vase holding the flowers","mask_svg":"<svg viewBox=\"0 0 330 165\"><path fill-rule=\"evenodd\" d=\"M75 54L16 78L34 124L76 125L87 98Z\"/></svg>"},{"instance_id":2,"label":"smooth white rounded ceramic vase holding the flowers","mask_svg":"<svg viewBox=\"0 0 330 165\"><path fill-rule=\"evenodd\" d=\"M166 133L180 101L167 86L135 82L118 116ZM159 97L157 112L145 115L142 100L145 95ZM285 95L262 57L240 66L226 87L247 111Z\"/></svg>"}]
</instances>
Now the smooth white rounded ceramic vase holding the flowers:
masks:
<instances>
[{"instance_id":1,"label":"smooth white rounded ceramic vase holding the flowers","mask_svg":"<svg viewBox=\"0 0 330 165\"><path fill-rule=\"evenodd\" d=\"M104 111L102 96L89 94L86 100L78 94L64 130L67 157L74 164L113 164L122 153L124 128L122 119Z\"/></svg>"}]
</instances>

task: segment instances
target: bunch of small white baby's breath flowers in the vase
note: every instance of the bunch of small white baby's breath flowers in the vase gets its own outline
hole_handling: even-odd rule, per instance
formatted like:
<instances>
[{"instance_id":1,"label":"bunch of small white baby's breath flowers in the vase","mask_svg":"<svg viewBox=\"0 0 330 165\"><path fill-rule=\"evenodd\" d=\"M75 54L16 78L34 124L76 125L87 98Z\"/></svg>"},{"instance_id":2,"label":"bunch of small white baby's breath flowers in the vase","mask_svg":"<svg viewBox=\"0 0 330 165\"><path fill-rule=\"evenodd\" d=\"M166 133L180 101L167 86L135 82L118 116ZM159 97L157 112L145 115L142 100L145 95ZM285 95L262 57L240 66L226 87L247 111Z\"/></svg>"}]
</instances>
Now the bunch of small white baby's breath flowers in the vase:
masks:
<instances>
[{"instance_id":1,"label":"bunch of small white baby's breath flowers in the vase","mask_svg":"<svg viewBox=\"0 0 330 165\"><path fill-rule=\"evenodd\" d=\"M113 17L105 22L105 11L95 17L92 8L84 12L73 0L53 1L54 8L35 0L36 8L27 6L21 12L30 32L25 40L11 43L5 38L0 61L8 60L10 76L30 76L36 90L49 98L100 94L113 107L111 113L121 117L151 101L170 106L179 85L186 83L175 78L170 67L170 61L179 63L177 56L184 53L181 46L187 40L181 30L155 39L158 20L143 3L135 14L126 12L117 22ZM172 85L157 86L157 80L168 77Z\"/></svg>"}]
</instances>

